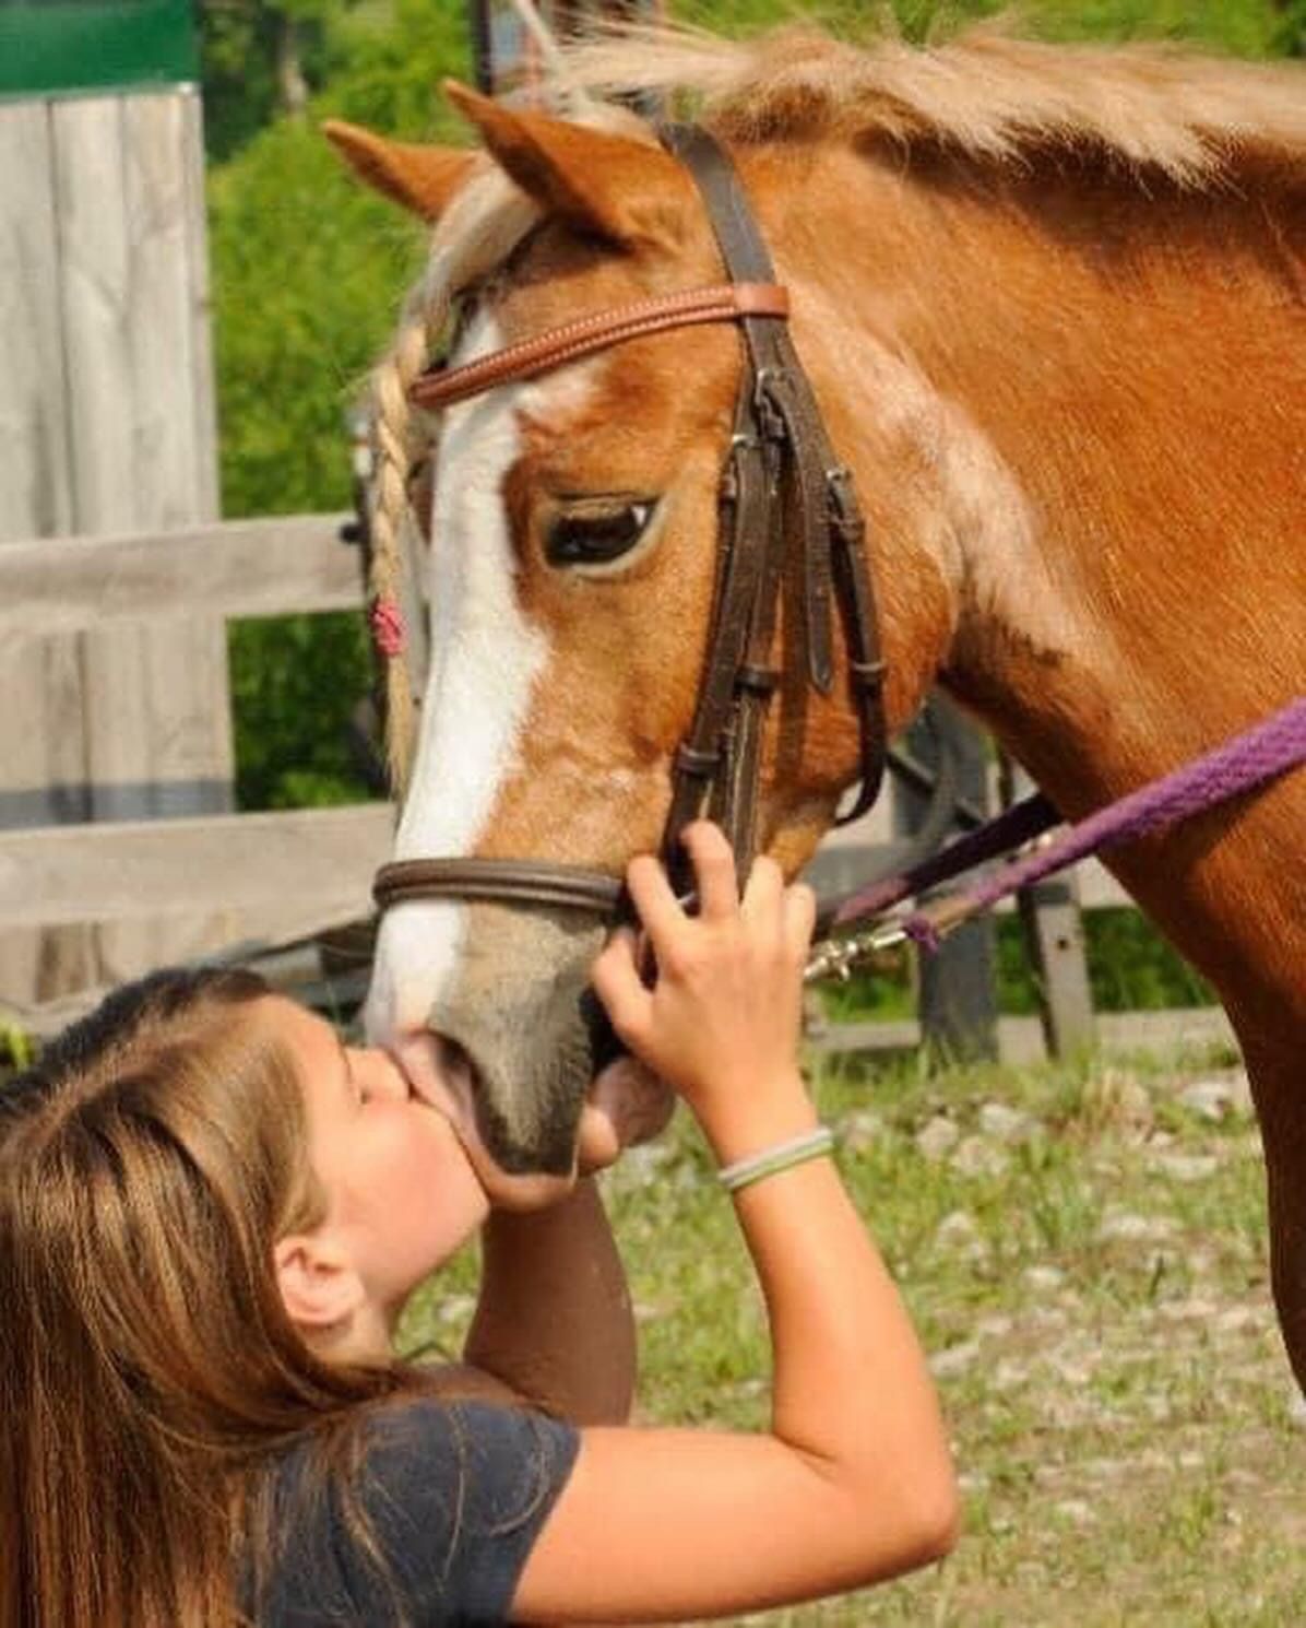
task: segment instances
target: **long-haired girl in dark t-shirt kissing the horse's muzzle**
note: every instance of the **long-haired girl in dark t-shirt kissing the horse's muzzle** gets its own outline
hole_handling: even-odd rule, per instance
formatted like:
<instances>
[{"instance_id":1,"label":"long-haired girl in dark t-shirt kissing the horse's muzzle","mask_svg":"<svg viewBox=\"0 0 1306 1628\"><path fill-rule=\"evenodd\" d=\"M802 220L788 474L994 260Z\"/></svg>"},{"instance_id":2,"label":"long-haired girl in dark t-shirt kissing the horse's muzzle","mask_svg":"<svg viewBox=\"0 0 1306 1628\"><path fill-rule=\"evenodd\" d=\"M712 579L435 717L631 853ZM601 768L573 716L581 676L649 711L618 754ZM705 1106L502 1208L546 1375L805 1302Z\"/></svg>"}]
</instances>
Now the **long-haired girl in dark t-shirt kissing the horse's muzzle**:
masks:
<instances>
[{"instance_id":1,"label":"long-haired girl in dark t-shirt kissing the horse's muzzle","mask_svg":"<svg viewBox=\"0 0 1306 1628\"><path fill-rule=\"evenodd\" d=\"M769 1433L623 1426L629 1312L587 1179L488 1216L452 1123L247 974L111 996L0 1092L0 1628L667 1621L942 1555L921 1350L795 1063L812 897L686 842L594 967L722 1166L774 1348ZM486 1224L468 1366L390 1351Z\"/></svg>"}]
</instances>

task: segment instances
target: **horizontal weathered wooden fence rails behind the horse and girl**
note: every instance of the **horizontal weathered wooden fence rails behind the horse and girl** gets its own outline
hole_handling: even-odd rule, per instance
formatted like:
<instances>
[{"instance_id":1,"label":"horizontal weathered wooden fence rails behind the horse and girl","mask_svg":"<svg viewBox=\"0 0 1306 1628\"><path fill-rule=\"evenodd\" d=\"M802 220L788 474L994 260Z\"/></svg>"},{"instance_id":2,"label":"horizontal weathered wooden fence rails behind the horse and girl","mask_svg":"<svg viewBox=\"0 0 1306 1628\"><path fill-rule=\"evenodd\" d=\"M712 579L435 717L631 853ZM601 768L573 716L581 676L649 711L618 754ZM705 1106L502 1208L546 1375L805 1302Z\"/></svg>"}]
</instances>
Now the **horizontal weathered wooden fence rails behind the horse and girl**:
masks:
<instances>
[{"instance_id":1,"label":"horizontal weathered wooden fence rails behind the horse and girl","mask_svg":"<svg viewBox=\"0 0 1306 1628\"><path fill-rule=\"evenodd\" d=\"M33 650L91 630L140 632L200 614L216 620L358 610L358 557L340 542L345 518L303 514L0 545L0 648ZM210 705L226 713L226 692L210 692ZM120 726L133 728L133 716ZM169 944L184 954L272 957L286 978L312 985L322 977L319 936L369 912L371 876L389 853L392 824L389 804L369 803L0 830L0 936L163 923ZM852 886L868 856L895 845L901 832L893 798L885 798L867 819L831 834L813 879ZM1075 887L1075 904L1085 908L1127 904L1096 864L1080 868ZM1075 908L1064 930L1078 934ZM44 1032L96 995L94 978L44 1000L0 985L0 1016ZM880 1035L901 1044L912 1032L890 1026ZM868 1034L857 1037L872 1042ZM1020 1047L1030 1050L1028 1034Z\"/></svg>"}]
</instances>

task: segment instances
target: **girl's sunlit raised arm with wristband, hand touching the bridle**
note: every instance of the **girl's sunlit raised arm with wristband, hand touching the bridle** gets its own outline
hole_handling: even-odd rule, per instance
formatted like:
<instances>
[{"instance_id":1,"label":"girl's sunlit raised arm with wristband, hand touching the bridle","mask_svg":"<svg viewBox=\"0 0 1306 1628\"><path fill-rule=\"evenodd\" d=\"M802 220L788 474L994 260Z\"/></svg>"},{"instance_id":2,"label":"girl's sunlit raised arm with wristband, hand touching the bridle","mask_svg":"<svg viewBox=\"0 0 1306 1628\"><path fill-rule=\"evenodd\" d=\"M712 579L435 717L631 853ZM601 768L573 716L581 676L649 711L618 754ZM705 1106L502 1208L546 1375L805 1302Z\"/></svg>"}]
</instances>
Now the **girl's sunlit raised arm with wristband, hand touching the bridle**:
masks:
<instances>
[{"instance_id":1,"label":"girl's sunlit raised arm with wristband, hand touching the bridle","mask_svg":"<svg viewBox=\"0 0 1306 1628\"><path fill-rule=\"evenodd\" d=\"M636 861L629 886L657 985L642 987L618 938L595 987L729 1164L815 1125L795 1066L813 907L760 861L740 908L724 837L696 825L686 847L701 920ZM584 1431L514 1621L738 1613L859 1587L951 1547L956 1485L934 1385L834 1164L799 1164L734 1203L771 1324L769 1433Z\"/></svg>"}]
</instances>

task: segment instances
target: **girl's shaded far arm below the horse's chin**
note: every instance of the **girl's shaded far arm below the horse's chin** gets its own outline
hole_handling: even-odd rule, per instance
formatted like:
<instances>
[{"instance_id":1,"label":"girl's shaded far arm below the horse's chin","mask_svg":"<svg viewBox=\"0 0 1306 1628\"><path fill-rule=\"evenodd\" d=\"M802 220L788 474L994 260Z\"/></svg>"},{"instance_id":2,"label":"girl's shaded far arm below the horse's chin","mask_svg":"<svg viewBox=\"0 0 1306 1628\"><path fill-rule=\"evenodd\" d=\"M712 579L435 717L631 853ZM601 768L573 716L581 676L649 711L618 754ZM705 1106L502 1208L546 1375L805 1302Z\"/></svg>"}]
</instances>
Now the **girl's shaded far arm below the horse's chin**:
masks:
<instances>
[{"instance_id":1,"label":"girl's shaded far arm below the horse's chin","mask_svg":"<svg viewBox=\"0 0 1306 1628\"><path fill-rule=\"evenodd\" d=\"M634 1397L626 1275L590 1177L548 1210L494 1210L464 1359L576 1424L621 1424Z\"/></svg>"}]
</instances>

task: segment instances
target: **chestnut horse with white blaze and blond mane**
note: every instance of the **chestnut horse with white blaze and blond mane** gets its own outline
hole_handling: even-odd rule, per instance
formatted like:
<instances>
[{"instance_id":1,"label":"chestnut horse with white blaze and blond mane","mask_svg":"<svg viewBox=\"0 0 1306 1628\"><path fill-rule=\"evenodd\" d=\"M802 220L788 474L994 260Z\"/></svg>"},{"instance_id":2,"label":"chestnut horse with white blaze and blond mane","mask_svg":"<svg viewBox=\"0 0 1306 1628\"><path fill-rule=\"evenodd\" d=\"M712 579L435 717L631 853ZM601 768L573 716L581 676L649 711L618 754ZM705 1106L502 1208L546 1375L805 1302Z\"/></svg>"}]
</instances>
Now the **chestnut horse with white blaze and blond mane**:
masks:
<instances>
[{"instance_id":1,"label":"chestnut horse with white blaze and blond mane","mask_svg":"<svg viewBox=\"0 0 1306 1628\"><path fill-rule=\"evenodd\" d=\"M870 518L893 726L940 681L1073 817L1306 692L1306 73L987 34L929 52L639 34L574 72L707 98ZM633 114L451 94L483 153L332 132L436 221L381 374L382 550L434 436L405 402L433 329L465 361L722 280L694 187ZM735 330L686 329L444 415L400 858L618 873L655 847L738 373ZM855 767L846 690L786 685L763 837L787 871ZM1112 860L1241 1039L1303 1382L1304 860L1301 773ZM600 936L490 904L385 920L372 1027L465 1047L504 1169L571 1167Z\"/></svg>"}]
</instances>

